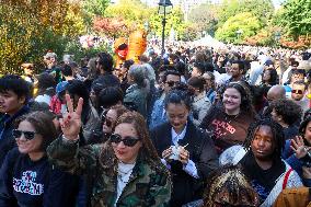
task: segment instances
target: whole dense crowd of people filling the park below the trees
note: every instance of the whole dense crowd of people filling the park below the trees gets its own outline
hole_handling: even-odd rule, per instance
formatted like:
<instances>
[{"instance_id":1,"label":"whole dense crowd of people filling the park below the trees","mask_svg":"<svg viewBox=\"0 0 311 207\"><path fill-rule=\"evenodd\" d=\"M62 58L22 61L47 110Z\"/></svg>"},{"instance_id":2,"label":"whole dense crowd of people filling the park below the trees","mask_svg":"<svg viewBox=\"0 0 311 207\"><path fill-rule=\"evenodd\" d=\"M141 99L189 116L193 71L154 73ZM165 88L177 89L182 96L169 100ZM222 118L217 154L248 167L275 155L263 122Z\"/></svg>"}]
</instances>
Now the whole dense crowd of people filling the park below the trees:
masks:
<instances>
[{"instance_id":1,"label":"whole dense crowd of people filling the park below the trees","mask_svg":"<svg viewBox=\"0 0 311 207\"><path fill-rule=\"evenodd\" d=\"M1 207L311 205L311 53L58 59L0 78Z\"/></svg>"}]
</instances>

